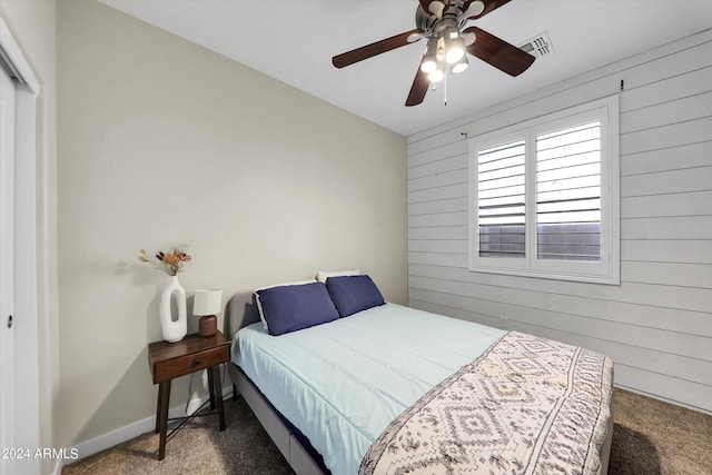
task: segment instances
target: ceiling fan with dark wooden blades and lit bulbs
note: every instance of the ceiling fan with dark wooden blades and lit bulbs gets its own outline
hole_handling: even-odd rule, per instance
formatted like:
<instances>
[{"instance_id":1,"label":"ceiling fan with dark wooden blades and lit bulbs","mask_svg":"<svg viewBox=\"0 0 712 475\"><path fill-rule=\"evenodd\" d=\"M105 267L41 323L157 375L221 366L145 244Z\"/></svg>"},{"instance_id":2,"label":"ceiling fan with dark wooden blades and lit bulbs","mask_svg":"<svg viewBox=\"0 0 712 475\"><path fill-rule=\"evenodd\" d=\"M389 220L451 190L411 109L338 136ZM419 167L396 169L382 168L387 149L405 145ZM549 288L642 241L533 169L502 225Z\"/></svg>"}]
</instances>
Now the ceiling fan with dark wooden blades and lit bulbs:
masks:
<instances>
[{"instance_id":1,"label":"ceiling fan with dark wooden blades and lit bulbs","mask_svg":"<svg viewBox=\"0 0 712 475\"><path fill-rule=\"evenodd\" d=\"M414 30L337 55L332 63L344 68L426 38L427 48L405 102L417 106L425 99L431 82L443 80L446 67L453 73L467 69L467 52L510 76L521 75L534 62L532 55L481 28L463 29L467 20L477 20L510 0L418 1Z\"/></svg>"}]
</instances>

